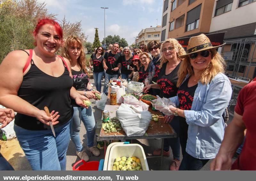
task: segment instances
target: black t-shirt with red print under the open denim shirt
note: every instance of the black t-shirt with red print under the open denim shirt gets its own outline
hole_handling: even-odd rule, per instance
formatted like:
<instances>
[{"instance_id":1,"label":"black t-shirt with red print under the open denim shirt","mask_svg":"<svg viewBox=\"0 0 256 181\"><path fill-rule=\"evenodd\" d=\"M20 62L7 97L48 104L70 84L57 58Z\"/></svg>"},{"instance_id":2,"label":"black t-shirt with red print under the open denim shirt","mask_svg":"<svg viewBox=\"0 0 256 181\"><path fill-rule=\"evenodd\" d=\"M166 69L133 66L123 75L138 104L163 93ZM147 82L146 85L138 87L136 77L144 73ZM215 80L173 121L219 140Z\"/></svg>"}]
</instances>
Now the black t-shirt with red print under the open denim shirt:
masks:
<instances>
[{"instance_id":1,"label":"black t-shirt with red print under the open denim shirt","mask_svg":"<svg viewBox=\"0 0 256 181\"><path fill-rule=\"evenodd\" d=\"M196 84L195 86L188 87L188 80L189 78L180 85L177 93L180 102L180 109L182 110L191 109L196 87L198 86L198 84Z\"/></svg>"}]
</instances>

